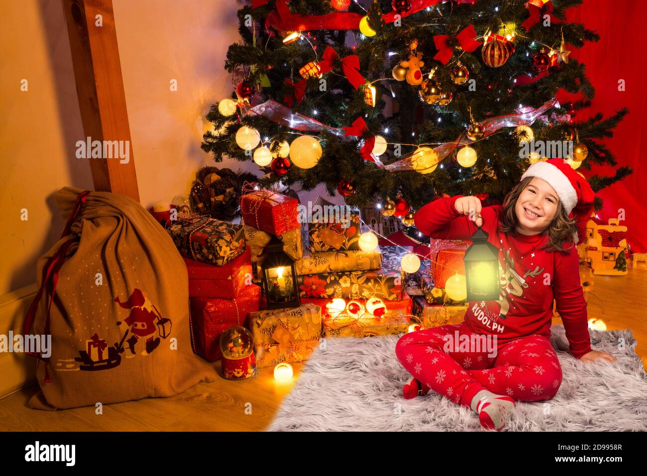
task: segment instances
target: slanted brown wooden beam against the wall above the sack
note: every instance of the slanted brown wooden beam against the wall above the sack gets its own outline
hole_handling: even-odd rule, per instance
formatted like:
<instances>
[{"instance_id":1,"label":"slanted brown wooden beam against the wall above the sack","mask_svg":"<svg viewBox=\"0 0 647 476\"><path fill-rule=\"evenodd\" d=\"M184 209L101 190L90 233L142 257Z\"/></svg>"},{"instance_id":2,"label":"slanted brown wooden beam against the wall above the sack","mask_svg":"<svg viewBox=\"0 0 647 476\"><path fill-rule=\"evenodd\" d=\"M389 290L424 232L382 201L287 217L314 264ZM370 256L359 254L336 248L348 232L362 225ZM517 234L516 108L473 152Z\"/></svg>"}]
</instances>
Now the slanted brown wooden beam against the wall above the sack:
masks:
<instances>
[{"instance_id":1,"label":"slanted brown wooden beam against the wall above the sack","mask_svg":"<svg viewBox=\"0 0 647 476\"><path fill-rule=\"evenodd\" d=\"M129 157L88 158L96 191L139 201L112 0L62 0L85 137L121 142ZM100 25L99 25L100 23ZM89 151L88 151L89 156Z\"/></svg>"}]
</instances>

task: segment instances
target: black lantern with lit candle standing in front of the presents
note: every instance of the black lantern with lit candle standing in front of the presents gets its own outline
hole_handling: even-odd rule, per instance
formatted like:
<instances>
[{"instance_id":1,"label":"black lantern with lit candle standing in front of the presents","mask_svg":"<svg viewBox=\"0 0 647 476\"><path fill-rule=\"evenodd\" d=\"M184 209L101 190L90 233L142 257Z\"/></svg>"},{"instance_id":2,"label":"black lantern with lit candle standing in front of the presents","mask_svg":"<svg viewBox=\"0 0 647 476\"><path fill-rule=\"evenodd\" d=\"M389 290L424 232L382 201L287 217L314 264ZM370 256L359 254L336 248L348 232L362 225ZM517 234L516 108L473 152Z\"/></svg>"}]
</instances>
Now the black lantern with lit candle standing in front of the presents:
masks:
<instances>
[{"instance_id":1,"label":"black lantern with lit candle standing in front of the presents","mask_svg":"<svg viewBox=\"0 0 647 476\"><path fill-rule=\"evenodd\" d=\"M301 299L296 286L294 261L283 252L283 243L276 237L270 241L267 250L267 259L262 266L267 308L298 307Z\"/></svg>"}]
</instances>

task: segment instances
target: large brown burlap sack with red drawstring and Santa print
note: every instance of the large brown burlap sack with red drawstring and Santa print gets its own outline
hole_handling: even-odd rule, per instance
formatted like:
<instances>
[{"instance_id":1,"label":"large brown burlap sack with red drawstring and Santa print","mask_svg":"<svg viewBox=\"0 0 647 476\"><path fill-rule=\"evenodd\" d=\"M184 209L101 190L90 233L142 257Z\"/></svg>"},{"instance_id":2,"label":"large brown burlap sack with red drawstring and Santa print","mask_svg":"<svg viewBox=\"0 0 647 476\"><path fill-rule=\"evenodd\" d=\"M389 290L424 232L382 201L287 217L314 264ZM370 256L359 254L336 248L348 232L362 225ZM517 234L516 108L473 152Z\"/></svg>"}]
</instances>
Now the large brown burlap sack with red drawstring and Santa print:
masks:
<instances>
[{"instance_id":1,"label":"large brown burlap sack with red drawstring and Santa print","mask_svg":"<svg viewBox=\"0 0 647 476\"><path fill-rule=\"evenodd\" d=\"M41 393L53 409L171 396L217 377L193 354L188 276L173 240L133 199L65 187L61 239L37 264L39 292L23 334L50 334L38 354Z\"/></svg>"}]
</instances>

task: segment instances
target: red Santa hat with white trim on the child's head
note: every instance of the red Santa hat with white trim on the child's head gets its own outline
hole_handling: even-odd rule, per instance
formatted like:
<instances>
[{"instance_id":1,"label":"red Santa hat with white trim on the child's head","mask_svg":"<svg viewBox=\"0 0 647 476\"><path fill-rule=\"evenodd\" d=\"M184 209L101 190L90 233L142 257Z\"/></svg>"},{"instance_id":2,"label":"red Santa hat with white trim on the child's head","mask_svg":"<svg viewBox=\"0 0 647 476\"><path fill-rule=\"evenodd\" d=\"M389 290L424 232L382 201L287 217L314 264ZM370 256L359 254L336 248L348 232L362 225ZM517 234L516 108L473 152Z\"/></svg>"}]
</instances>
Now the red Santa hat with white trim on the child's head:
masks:
<instances>
[{"instance_id":1,"label":"red Santa hat with white trim on the child's head","mask_svg":"<svg viewBox=\"0 0 647 476\"><path fill-rule=\"evenodd\" d=\"M538 177L555 189L566 214L576 221L578 232L573 234L573 241L576 245L584 241L586 222L591 217L595 200L589 182L562 158L535 162L521 175L521 180L526 177Z\"/></svg>"}]
</instances>

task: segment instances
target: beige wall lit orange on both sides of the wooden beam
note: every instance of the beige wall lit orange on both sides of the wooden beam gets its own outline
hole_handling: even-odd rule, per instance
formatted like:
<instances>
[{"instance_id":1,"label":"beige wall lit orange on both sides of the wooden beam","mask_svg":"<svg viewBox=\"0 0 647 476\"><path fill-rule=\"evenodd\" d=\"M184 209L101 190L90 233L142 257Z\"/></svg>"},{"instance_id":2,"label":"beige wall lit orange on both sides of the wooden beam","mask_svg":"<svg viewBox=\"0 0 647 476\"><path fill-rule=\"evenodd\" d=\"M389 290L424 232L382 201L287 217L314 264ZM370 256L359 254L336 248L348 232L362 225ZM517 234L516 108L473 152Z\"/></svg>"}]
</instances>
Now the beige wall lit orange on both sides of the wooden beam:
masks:
<instances>
[{"instance_id":1,"label":"beige wall lit orange on both sides of the wooden beam","mask_svg":"<svg viewBox=\"0 0 647 476\"><path fill-rule=\"evenodd\" d=\"M223 68L239 40L238 1L113 0L140 201L188 193L197 169L214 165L200 149L204 114L232 93ZM60 0L5 2L0 19L0 295L36 281L39 255L63 222L51 195L92 188L75 157L83 127ZM20 80L29 91L20 91ZM177 91L170 81L177 80ZM223 162L258 172L253 162ZM316 197L318 188L305 197ZM305 195L305 194L304 194ZM340 202L340 199L334 200ZM20 221L28 208L28 221Z\"/></svg>"}]
</instances>

